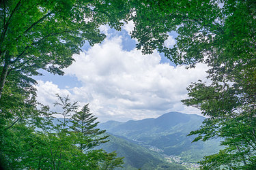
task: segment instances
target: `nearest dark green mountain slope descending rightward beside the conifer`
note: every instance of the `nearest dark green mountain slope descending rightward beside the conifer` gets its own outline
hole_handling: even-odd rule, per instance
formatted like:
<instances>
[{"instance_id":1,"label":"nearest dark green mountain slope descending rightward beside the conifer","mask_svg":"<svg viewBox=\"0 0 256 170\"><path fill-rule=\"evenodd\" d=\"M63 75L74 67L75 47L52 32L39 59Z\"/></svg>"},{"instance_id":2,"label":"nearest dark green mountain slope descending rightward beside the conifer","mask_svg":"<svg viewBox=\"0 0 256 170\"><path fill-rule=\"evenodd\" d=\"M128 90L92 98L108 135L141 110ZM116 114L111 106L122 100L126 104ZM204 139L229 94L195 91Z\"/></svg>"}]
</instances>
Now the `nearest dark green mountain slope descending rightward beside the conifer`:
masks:
<instances>
[{"instance_id":1,"label":"nearest dark green mountain slope descending rightward beside the conifer","mask_svg":"<svg viewBox=\"0 0 256 170\"><path fill-rule=\"evenodd\" d=\"M186 169L182 165L168 163L158 152L154 152L129 139L111 135L110 141L103 143L98 148L107 152L117 152L117 156L124 156L124 168L122 169Z\"/></svg>"}]
</instances>

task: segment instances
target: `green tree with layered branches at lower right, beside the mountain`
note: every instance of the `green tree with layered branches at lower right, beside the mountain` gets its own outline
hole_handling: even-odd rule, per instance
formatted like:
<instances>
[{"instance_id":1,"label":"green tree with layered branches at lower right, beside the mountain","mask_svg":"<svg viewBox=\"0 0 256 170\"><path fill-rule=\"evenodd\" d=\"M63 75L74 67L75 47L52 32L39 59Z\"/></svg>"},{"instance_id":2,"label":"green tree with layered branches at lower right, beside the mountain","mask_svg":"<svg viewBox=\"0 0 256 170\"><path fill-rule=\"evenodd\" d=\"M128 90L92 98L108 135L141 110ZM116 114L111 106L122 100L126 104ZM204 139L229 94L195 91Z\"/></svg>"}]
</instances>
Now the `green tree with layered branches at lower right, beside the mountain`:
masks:
<instances>
[{"instance_id":1,"label":"green tree with layered branches at lower right, beside the mountain","mask_svg":"<svg viewBox=\"0 0 256 170\"><path fill-rule=\"evenodd\" d=\"M218 166L255 169L256 119L251 103L246 104L246 99L239 96L237 89L227 84L205 86L203 83L197 83L191 85L188 90L190 99L184 100L184 103L200 107L203 113L210 115L210 118L203 121L199 130L189 135L198 135L194 141L221 137L221 145L225 146L225 150L218 154L205 156L201 161L202 168L216 167L214 162L225 154Z\"/></svg>"}]
</instances>

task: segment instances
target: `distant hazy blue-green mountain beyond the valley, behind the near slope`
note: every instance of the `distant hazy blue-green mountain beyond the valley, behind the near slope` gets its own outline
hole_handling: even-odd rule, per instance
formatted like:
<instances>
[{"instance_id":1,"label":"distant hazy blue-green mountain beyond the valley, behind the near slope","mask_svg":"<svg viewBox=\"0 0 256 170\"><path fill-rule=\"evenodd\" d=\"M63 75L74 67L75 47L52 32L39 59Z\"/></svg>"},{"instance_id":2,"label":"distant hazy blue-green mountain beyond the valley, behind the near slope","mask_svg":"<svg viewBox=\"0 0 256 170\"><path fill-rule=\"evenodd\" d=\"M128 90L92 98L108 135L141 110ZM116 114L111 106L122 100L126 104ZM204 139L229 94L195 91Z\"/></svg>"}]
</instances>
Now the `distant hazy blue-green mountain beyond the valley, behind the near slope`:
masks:
<instances>
[{"instance_id":1,"label":"distant hazy blue-green mountain beyond the valley, behind the near slope","mask_svg":"<svg viewBox=\"0 0 256 170\"><path fill-rule=\"evenodd\" d=\"M221 148L219 140L191 143L195 136L187 137L190 131L199 128L205 118L198 115L170 112L158 118L109 121L98 125L108 133L126 137L141 146L156 148L161 154L180 156L182 160L196 163L205 155L214 154Z\"/></svg>"}]
</instances>

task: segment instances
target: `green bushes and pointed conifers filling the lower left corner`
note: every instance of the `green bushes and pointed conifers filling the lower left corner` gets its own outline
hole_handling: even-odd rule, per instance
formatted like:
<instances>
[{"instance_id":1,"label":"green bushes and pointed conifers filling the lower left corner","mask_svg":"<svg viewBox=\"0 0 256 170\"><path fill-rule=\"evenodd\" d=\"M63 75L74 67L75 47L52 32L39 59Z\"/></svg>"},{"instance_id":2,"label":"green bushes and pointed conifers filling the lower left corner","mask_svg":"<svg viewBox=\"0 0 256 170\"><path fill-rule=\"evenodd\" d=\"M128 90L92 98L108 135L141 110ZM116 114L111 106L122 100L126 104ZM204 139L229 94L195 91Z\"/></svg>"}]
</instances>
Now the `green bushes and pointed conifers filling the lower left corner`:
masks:
<instances>
[{"instance_id":1,"label":"green bushes and pointed conifers filling the lower left corner","mask_svg":"<svg viewBox=\"0 0 256 170\"><path fill-rule=\"evenodd\" d=\"M68 97L59 97L62 112L50 112L49 107L43 106L38 110L42 117L38 118L38 130L35 123L25 124L17 122L12 128L4 131L1 156L5 160L5 169L113 169L121 167L122 158L116 158L115 152L107 153L104 150L93 150L95 146L106 139L104 131L99 131L96 126L83 126L82 131L74 131L79 127L81 120L70 120L71 114L77 118L83 109L89 110L88 105L77 112L76 103L71 103ZM63 119L54 123L53 115L60 114ZM88 118L91 113L83 112ZM91 119L89 124L94 123ZM77 122L77 124L72 124ZM87 125L89 125L87 124ZM102 137L103 135L103 137ZM98 141L97 143L95 141ZM106 140L104 140L106 142ZM79 144L79 145L78 145ZM83 148L81 146L90 146Z\"/></svg>"}]
</instances>

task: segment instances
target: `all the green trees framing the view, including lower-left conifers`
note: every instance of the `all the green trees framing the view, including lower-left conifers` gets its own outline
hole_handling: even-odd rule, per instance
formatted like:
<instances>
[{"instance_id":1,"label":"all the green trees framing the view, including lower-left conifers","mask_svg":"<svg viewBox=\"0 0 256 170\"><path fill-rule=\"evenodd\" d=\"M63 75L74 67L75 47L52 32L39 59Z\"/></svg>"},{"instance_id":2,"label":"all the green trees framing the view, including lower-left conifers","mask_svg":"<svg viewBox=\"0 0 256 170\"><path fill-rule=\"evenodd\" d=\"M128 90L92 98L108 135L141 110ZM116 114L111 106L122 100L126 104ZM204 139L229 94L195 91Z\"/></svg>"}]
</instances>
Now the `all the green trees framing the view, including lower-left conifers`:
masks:
<instances>
[{"instance_id":1,"label":"all the green trees framing the view, including lower-left conifers","mask_svg":"<svg viewBox=\"0 0 256 170\"><path fill-rule=\"evenodd\" d=\"M185 105L207 118L188 135L220 138L224 149L201 169L256 169L256 1L254 0L1 0L0 156L5 169L114 169L115 152L91 150L107 142L88 105L60 97L63 112L35 100L39 69L63 75L85 43L104 40L99 27L131 37L143 54L158 50L188 69L205 63L210 83L188 86ZM175 45L165 46L174 31ZM61 115L63 121L53 124ZM195 136L194 136L195 135Z\"/></svg>"}]
</instances>

